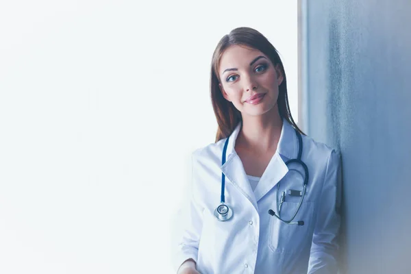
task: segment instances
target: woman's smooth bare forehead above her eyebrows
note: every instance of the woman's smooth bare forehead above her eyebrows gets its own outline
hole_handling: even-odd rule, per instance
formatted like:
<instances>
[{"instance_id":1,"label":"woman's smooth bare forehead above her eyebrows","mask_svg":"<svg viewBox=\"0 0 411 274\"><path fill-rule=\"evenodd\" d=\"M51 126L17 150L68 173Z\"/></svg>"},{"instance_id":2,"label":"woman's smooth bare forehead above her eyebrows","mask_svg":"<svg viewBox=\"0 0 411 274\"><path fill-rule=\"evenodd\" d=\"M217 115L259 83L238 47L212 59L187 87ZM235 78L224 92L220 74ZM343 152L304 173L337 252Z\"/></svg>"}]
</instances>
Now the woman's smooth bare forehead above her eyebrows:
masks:
<instances>
[{"instance_id":1,"label":"woman's smooth bare forehead above her eyebrows","mask_svg":"<svg viewBox=\"0 0 411 274\"><path fill-rule=\"evenodd\" d=\"M249 67L250 62L258 56L264 56L269 59L264 53L258 49L251 49L249 47L233 45L225 49L223 55L221 55L219 62L219 73L225 69Z\"/></svg>"}]
</instances>

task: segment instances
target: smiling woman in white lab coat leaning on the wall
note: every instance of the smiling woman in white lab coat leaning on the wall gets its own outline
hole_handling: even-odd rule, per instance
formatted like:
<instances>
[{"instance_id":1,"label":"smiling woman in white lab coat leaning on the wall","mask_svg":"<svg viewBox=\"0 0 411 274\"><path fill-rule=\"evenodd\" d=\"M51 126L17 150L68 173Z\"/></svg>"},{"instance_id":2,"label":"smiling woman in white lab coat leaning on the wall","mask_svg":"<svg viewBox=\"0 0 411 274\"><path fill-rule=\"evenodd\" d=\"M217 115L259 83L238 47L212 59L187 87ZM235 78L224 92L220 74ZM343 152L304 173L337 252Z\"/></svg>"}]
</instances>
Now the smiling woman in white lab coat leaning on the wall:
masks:
<instances>
[{"instance_id":1,"label":"smiling woman in white lab coat leaning on the wall","mask_svg":"<svg viewBox=\"0 0 411 274\"><path fill-rule=\"evenodd\" d=\"M255 29L212 57L216 142L192 153L179 274L337 273L340 155L290 114L276 49Z\"/></svg>"}]
</instances>

